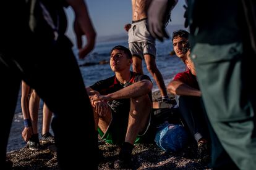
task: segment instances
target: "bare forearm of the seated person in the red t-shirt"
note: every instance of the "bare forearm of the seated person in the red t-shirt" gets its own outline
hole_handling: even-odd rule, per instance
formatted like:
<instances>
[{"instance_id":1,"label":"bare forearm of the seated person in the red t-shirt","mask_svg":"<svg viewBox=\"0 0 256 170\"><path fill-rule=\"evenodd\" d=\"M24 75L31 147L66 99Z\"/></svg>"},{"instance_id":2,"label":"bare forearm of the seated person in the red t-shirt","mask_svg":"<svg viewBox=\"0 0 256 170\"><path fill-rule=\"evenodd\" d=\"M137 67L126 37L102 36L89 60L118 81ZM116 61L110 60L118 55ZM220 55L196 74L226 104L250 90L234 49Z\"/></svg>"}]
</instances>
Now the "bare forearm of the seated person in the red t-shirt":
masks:
<instances>
[{"instance_id":1,"label":"bare forearm of the seated person in the red t-shirt","mask_svg":"<svg viewBox=\"0 0 256 170\"><path fill-rule=\"evenodd\" d=\"M173 80L168 84L168 92L176 95L191 95L197 97L200 97L202 95L201 91L199 91L198 89L190 87L189 85L179 80Z\"/></svg>"}]
</instances>

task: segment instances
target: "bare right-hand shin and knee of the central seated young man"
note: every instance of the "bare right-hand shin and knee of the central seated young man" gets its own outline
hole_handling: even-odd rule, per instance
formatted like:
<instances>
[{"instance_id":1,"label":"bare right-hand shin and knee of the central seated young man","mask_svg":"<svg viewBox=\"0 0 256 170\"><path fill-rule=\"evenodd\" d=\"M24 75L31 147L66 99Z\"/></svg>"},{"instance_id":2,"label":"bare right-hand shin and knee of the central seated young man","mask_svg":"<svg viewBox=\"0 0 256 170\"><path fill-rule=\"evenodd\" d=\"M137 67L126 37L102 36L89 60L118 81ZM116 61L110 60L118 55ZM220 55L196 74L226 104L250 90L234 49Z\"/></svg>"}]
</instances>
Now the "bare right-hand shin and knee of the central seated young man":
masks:
<instances>
[{"instance_id":1,"label":"bare right-hand shin and knee of the central seated young man","mask_svg":"<svg viewBox=\"0 0 256 170\"><path fill-rule=\"evenodd\" d=\"M134 144L139 132L145 129L151 112L151 101L148 95L130 99L130 113L125 142Z\"/></svg>"}]
</instances>

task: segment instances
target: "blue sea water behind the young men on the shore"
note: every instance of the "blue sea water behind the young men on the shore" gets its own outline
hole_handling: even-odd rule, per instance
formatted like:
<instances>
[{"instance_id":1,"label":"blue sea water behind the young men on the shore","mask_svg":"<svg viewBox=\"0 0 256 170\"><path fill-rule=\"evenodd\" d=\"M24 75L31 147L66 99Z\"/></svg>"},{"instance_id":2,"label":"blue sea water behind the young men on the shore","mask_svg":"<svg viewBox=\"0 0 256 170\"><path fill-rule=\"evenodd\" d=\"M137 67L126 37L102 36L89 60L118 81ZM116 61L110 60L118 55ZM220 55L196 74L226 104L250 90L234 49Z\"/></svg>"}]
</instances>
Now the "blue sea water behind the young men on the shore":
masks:
<instances>
[{"instance_id":1,"label":"blue sea water behind the young men on the shore","mask_svg":"<svg viewBox=\"0 0 256 170\"><path fill-rule=\"evenodd\" d=\"M93 51L90 52L90 54L88 54L87 57L83 60L78 59L77 57L78 50L75 47L73 51L77 57L77 62L79 63L79 65L82 65L83 63L88 63L88 62L98 63L101 60L109 61L109 56L110 56L109 52L114 46L117 46L117 45L128 47L127 40L100 42L96 44ZM185 69L184 64L181 62L181 60L178 57L176 57L175 55L171 56L169 54L171 51L173 51L173 45L172 45L171 39L165 40L164 42L156 41L156 65L158 67L158 70L160 70L161 74L163 75L164 83L166 84L166 86L168 85L169 81L171 81L171 79L173 79L173 77L177 73L184 71ZM130 69L132 70L132 67ZM106 79L114 75L108 63L105 65L91 65L86 67L80 67L80 71L82 73L85 86L91 86L92 84L96 83L96 81L99 81L101 79ZM153 82L153 91L157 91L158 87L156 86L156 83L153 77L148 72L147 66L145 65L144 61L143 61L143 71L145 75L150 76L151 81ZM40 107L42 107L42 105L43 105L43 102L40 103ZM19 94L15 113L19 113L20 111L21 111L21 107L20 107L20 94Z\"/></svg>"}]
</instances>

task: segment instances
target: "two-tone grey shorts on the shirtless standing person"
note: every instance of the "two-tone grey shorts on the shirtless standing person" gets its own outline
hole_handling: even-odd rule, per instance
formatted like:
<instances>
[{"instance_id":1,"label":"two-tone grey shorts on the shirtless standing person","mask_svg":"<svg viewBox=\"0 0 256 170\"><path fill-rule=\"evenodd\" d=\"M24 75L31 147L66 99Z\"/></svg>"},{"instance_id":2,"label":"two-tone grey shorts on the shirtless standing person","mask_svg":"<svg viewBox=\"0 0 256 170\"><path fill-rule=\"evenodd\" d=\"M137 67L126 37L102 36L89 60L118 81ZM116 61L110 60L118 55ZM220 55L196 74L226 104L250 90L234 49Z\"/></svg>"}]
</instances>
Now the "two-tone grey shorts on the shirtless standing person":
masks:
<instances>
[{"instance_id":1,"label":"two-tone grey shorts on the shirtless standing person","mask_svg":"<svg viewBox=\"0 0 256 170\"><path fill-rule=\"evenodd\" d=\"M155 38L148 31L147 20L132 23L128 36L129 49L132 55L143 59L145 54L150 54L155 59Z\"/></svg>"}]
</instances>

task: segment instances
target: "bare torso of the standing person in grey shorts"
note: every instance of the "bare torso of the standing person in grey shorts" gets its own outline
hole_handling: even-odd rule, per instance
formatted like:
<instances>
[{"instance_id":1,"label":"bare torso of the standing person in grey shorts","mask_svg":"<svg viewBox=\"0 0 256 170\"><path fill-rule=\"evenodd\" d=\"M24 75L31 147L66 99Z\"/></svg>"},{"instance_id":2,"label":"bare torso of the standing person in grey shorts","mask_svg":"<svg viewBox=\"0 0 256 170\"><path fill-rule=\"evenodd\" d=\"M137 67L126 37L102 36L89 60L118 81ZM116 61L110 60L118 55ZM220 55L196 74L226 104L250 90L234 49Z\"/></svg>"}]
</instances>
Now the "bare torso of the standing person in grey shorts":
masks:
<instances>
[{"instance_id":1,"label":"bare torso of the standing person in grey shorts","mask_svg":"<svg viewBox=\"0 0 256 170\"><path fill-rule=\"evenodd\" d=\"M132 20L147 18L147 11L151 0L132 0Z\"/></svg>"}]
</instances>

